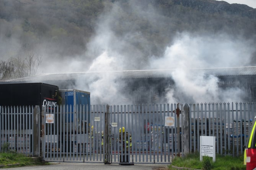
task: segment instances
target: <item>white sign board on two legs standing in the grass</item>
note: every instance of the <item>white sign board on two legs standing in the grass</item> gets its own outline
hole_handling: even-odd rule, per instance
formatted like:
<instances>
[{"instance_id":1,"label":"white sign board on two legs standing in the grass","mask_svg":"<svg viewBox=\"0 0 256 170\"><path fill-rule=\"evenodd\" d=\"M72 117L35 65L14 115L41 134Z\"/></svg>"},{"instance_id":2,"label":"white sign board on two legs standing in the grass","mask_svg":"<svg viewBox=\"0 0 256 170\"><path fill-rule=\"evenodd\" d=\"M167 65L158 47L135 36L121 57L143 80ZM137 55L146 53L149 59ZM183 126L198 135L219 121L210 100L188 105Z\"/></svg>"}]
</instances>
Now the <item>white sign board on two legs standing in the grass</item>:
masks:
<instances>
[{"instance_id":1,"label":"white sign board on two legs standing in the grass","mask_svg":"<svg viewBox=\"0 0 256 170\"><path fill-rule=\"evenodd\" d=\"M212 157L215 162L215 136L200 136L200 161L203 156Z\"/></svg>"}]
</instances>

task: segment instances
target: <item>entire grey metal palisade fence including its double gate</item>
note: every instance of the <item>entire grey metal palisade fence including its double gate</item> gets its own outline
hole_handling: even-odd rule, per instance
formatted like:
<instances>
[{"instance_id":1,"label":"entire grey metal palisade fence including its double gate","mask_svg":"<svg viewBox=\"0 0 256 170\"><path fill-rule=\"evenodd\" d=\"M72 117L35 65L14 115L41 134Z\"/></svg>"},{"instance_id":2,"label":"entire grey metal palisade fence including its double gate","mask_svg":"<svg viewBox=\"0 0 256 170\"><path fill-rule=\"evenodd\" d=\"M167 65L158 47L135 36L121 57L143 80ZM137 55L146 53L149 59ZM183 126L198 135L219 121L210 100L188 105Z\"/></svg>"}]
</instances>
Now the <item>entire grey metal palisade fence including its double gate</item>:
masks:
<instances>
[{"instance_id":1,"label":"entire grey metal palisade fence including its double gate","mask_svg":"<svg viewBox=\"0 0 256 170\"><path fill-rule=\"evenodd\" d=\"M200 136L215 136L216 153L239 156L254 109L251 102L0 107L0 149L47 161L168 163L199 152ZM131 147L119 142L122 127Z\"/></svg>"}]
</instances>

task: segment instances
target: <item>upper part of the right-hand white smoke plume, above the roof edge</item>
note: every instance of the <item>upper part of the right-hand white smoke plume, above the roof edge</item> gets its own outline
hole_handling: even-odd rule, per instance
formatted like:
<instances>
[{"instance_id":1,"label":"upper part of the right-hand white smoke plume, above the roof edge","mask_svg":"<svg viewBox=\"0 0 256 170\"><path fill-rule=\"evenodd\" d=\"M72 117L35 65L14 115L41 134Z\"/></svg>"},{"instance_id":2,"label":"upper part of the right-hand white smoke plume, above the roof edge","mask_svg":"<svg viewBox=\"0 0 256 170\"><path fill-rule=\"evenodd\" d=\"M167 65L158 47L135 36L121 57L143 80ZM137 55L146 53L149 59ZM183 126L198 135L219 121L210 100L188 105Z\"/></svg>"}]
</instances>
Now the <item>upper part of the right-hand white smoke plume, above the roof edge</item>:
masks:
<instances>
[{"instance_id":1,"label":"upper part of the right-hand white smoke plume, above the roof edge","mask_svg":"<svg viewBox=\"0 0 256 170\"><path fill-rule=\"evenodd\" d=\"M151 68L221 68L247 66L252 47L244 39L232 39L225 34L193 36L178 34L166 47L163 57L151 61Z\"/></svg>"}]
</instances>

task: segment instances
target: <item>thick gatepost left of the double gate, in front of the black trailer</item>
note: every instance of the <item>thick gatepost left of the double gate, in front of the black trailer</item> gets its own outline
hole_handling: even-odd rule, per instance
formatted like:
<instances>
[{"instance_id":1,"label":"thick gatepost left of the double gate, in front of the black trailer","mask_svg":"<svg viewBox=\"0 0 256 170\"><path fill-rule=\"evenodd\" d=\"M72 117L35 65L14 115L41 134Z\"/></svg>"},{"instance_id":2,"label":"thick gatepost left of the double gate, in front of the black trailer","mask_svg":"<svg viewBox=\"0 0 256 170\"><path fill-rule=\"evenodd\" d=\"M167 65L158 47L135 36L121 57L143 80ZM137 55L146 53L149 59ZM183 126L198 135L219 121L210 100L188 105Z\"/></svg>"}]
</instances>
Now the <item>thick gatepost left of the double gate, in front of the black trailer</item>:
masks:
<instances>
[{"instance_id":1,"label":"thick gatepost left of the double gate, in front of the black trailer","mask_svg":"<svg viewBox=\"0 0 256 170\"><path fill-rule=\"evenodd\" d=\"M33 157L38 157L39 156L39 141L38 141L38 134L39 134L39 130L38 130L38 114L39 113L39 106L35 106L34 110L33 110Z\"/></svg>"}]
</instances>

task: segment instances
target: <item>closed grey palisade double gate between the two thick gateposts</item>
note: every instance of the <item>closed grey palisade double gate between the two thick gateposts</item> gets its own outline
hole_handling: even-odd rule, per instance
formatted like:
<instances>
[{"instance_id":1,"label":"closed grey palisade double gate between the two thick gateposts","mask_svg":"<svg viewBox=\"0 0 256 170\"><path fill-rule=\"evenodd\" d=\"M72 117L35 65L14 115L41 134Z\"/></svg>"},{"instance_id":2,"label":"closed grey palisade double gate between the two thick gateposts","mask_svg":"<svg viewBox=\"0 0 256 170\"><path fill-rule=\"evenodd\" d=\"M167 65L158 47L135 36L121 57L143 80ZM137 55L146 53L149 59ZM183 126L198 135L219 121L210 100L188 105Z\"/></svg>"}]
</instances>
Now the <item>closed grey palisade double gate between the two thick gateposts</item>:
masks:
<instances>
[{"instance_id":1,"label":"closed grey palisade double gate between the two thick gateposts","mask_svg":"<svg viewBox=\"0 0 256 170\"><path fill-rule=\"evenodd\" d=\"M72 112L72 107L76 107L77 113ZM162 108L162 105L57 108L54 118L59 123L46 123L42 130L46 134L42 139L45 141L42 142L45 144L42 151L44 159L105 163L170 162L178 151L170 134L177 132L175 128L165 128L163 123L165 116L175 113ZM170 108L174 109L174 106ZM45 112L44 115L47 122L50 114ZM119 135L123 127L129 140Z\"/></svg>"}]
</instances>

